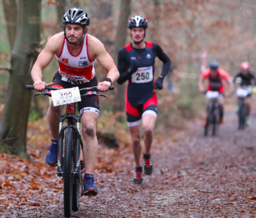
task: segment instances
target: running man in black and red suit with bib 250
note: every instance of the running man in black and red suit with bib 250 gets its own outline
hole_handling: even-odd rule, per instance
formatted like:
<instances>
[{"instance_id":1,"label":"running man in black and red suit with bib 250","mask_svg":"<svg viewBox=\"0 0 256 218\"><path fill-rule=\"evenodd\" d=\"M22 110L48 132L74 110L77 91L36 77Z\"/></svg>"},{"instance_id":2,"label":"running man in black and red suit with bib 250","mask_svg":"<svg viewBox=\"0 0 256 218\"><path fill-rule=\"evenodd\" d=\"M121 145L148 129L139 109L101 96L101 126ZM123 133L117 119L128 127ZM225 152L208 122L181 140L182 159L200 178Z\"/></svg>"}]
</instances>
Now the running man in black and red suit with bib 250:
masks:
<instances>
[{"instance_id":1,"label":"running man in black and red suit with bib 250","mask_svg":"<svg viewBox=\"0 0 256 218\"><path fill-rule=\"evenodd\" d=\"M163 53L158 44L144 41L148 26L144 17L132 17L127 26L131 29L133 42L122 47L118 53L120 77L117 83L122 84L128 80L125 110L127 124L132 136L131 144L136 163L134 183L140 184L143 181L140 162L140 124L142 120L145 142L143 154L144 173L151 175L153 165L150 149L157 118L157 95L154 89L163 88L163 79L169 71L170 59ZM163 62L163 69L161 76L154 82L156 57Z\"/></svg>"}]
</instances>

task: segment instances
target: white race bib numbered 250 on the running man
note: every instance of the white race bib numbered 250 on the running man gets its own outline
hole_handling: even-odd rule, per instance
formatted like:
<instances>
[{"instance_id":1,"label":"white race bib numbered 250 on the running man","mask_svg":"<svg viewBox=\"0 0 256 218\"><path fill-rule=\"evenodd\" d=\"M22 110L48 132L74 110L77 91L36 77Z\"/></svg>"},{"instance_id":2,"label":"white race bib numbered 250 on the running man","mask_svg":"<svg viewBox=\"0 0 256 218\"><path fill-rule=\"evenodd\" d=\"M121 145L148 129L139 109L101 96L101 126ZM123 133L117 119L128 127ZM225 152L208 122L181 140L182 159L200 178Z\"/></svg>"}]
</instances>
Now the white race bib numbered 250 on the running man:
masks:
<instances>
[{"instance_id":1,"label":"white race bib numbered 250 on the running man","mask_svg":"<svg viewBox=\"0 0 256 218\"><path fill-rule=\"evenodd\" d=\"M132 75L132 83L148 83L153 80L153 67L139 67Z\"/></svg>"}]
</instances>

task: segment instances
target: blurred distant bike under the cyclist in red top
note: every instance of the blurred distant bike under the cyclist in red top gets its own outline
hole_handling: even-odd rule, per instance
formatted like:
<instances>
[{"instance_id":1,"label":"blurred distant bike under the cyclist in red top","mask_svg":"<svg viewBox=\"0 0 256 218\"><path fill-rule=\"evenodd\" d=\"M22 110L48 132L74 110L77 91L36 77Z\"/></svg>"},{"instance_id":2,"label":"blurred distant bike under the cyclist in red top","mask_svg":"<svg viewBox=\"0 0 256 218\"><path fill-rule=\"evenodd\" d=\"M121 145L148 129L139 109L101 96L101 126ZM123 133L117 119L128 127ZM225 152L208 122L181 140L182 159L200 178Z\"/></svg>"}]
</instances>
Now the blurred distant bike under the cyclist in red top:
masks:
<instances>
[{"instance_id":1,"label":"blurred distant bike under the cyclist in red top","mask_svg":"<svg viewBox=\"0 0 256 218\"><path fill-rule=\"evenodd\" d=\"M204 128L204 135L208 135L209 127L212 126L212 135L215 136L220 124L220 104L218 102L218 91L207 91L206 98L210 99L210 103L207 106L207 117Z\"/></svg>"}]
</instances>

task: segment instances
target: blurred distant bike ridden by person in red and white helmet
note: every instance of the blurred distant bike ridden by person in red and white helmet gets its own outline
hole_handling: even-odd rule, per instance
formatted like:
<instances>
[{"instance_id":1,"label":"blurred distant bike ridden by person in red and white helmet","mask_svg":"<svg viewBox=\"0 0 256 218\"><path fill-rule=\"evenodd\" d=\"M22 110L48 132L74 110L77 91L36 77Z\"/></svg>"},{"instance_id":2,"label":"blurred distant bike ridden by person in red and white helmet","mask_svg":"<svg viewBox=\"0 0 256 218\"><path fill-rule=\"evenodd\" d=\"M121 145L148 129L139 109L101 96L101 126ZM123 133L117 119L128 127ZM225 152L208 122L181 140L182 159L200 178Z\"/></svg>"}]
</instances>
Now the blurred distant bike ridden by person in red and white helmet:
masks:
<instances>
[{"instance_id":1,"label":"blurred distant bike ridden by person in red and white helmet","mask_svg":"<svg viewBox=\"0 0 256 218\"><path fill-rule=\"evenodd\" d=\"M238 96L238 129L244 130L245 129L245 122L246 122L246 103L245 99L247 98L248 91L246 89L237 89L236 91Z\"/></svg>"}]
</instances>

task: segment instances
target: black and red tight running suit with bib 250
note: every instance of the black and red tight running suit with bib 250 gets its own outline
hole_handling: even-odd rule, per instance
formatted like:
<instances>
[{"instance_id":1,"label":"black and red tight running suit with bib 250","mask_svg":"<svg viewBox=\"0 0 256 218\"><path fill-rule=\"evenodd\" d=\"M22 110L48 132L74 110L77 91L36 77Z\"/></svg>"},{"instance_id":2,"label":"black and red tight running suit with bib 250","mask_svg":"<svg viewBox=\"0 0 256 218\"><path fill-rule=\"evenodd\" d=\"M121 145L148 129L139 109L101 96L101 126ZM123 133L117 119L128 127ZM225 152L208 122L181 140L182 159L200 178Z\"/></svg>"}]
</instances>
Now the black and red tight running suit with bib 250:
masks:
<instances>
[{"instance_id":1,"label":"black and red tight running suit with bib 250","mask_svg":"<svg viewBox=\"0 0 256 218\"><path fill-rule=\"evenodd\" d=\"M128 80L125 98L125 111L128 126L141 123L142 115L146 113L157 116L157 95L154 91L155 58L163 62L161 76L164 78L170 68L170 59L163 53L161 47L152 42L145 42L144 49L135 49L131 44L125 45L118 53L118 84ZM142 66L134 74L128 71L139 58Z\"/></svg>"}]
</instances>

